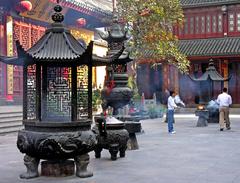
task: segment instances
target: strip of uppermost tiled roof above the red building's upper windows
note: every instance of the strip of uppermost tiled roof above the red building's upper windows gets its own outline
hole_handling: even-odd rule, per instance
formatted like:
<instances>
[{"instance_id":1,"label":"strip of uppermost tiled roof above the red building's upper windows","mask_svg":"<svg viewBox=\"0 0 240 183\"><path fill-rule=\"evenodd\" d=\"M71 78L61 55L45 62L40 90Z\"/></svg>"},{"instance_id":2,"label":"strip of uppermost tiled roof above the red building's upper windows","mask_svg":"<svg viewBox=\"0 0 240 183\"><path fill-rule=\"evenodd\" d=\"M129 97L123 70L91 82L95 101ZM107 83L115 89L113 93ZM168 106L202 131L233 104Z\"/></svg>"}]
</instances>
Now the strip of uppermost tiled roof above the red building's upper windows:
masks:
<instances>
[{"instance_id":1,"label":"strip of uppermost tiled roof above the red building's upper windows","mask_svg":"<svg viewBox=\"0 0 240 183\"><path fill-rule=\"evenodd\" d=\"M236 4L239 0L180 0L183 7L213 6L224 4Z\"/></svg>"}]
</instances>

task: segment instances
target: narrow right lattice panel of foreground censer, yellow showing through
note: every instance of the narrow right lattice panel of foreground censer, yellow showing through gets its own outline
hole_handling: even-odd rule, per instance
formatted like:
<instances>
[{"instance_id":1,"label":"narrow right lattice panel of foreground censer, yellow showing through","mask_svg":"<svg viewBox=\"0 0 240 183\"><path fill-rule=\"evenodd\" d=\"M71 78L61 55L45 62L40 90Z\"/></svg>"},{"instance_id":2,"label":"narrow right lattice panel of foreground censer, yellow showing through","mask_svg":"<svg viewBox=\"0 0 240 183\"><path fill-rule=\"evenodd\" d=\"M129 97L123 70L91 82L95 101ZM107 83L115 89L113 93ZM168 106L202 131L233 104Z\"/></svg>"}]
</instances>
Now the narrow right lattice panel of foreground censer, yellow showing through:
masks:
<instances>
[{"instance_id":1,"label":"narrow right lattice panel of foreground censer, yellow showing through","mask_svg":"<svg viewBox=\"0 0 240 183\"><path fill-rule=\"evenodd\" d=\"M88 117L88 67L77 68L77 116L78 119Z\"/></svg>"}]
</instances>

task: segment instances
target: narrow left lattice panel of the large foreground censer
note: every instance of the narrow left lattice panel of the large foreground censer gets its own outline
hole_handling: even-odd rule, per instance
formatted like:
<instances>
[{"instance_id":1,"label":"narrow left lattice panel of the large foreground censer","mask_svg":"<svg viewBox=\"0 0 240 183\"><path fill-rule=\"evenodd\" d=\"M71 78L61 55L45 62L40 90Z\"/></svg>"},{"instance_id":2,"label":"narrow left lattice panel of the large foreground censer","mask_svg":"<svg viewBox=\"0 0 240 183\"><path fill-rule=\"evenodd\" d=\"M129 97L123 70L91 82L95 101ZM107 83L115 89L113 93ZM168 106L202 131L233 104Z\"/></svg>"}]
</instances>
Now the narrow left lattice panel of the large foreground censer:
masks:
<instances>
[{"instance_id":1,"label":"narrow left lattice panel of the large foreground censer","mask_svg":"<svg viewBox=\"0 0 240 183\"><path fill-rule=\"evenodd\" d=\"M36 119L36 65L27 68L27 119Z\"/></svg>"}]
</instances>

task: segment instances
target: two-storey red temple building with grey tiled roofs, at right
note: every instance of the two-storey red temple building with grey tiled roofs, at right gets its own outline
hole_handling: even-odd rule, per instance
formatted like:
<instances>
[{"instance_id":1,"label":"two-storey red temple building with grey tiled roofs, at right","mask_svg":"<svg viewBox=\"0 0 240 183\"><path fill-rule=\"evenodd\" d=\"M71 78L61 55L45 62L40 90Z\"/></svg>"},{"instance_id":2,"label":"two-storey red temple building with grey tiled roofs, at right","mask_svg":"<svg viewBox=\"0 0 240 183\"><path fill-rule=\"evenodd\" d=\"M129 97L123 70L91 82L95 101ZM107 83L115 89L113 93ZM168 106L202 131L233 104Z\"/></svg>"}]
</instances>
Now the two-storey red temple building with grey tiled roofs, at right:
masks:
<instances>
[{"instance_id":1,"label":"two-storey red temple building with grey tiled roofs, at right","mask_svg":"<svg viewBox=\"0 0 240 183\"><path fill-rule=\"evenodd\" d=\"M190 60L190 76L200 77L208 67L209 60L224 78L224 83L214 83L214 97L227 87L233 104L240 104L240 1L239 0L180 0L184 11L184 25L174 27L179 38L179 49ZM142 63L138 66L139 93L152 98L156 93L158 101L163 101L166 90L180 94L187 106L195 106L200 98L207 102L209 87L206 82L194 82L188 75L159 61L152 68ZM144 75L144 76L143 76ZM154 81L154 82L152 82Z\"/></svg>"}]
</instances>

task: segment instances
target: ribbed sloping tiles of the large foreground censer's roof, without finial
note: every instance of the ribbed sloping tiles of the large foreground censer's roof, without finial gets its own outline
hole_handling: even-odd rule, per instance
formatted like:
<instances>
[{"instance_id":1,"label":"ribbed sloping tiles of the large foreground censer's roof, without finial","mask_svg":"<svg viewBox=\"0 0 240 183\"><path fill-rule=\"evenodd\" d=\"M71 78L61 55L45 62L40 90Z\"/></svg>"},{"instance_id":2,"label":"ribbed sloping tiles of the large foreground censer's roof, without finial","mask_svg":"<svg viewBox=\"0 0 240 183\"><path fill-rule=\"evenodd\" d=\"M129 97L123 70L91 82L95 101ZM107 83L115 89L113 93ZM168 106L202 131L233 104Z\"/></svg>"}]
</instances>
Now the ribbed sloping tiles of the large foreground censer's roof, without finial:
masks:
<instances>
[{"instance_id":1,"label":"ribbed sloping tiles of the large foreground censer's roof, without finial","mask_svg":"<svg viewBox=\"0 0 240 183\"><path fill-rule=\"evenodd\" d=\"M61 25L50 28L44 36L27 50L34 59L39 60L74 60L86 49Z\"/></svg>"}]
</instances>

